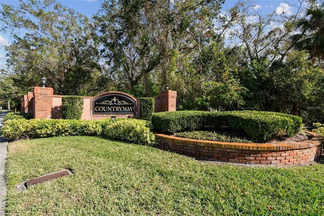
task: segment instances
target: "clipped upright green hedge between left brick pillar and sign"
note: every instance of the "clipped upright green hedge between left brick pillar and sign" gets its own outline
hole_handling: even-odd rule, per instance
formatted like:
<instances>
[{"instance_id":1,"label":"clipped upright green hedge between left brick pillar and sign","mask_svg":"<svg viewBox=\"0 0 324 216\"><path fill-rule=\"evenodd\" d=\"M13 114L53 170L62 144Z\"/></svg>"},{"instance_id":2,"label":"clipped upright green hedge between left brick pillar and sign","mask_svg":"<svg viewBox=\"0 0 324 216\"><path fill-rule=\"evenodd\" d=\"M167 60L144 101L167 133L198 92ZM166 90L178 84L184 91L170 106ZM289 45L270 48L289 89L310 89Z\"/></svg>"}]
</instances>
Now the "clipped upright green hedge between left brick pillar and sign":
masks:
<instances>
[{"instance_id":1,"label":"clipped upright green hedge between left brick pillar and sign","mask_svg":"<svg viewBox=\"0 0 324 216\"><path fill-rule=\"evenodd\" d=\"M62 97L62 119L80 120L83 111L82 96Z\"/></svg>"}]
</instances>

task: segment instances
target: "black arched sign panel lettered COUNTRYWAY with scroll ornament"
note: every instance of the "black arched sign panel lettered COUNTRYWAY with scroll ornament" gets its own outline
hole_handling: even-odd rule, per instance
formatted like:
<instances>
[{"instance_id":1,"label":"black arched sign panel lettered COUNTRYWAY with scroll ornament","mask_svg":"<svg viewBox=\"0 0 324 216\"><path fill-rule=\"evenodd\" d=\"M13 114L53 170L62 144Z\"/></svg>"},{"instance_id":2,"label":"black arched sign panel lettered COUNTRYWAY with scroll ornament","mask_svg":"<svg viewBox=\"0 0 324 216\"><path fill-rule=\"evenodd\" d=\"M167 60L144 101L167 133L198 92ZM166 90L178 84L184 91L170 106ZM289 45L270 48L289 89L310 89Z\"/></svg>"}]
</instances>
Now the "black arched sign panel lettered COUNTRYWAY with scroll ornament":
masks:
<instances>
[{"instance_id":1,"label":"black arched sign panel lettered COUNTRYWAY with scroll ornament","mask_svg":"<svg viewBox=\"0 0 324 216\"><path fill-rule=\"evenodd\" d=\"M135 114L136 101L127 95L108 93L93 100L94 114Z\"/></svg>"}]
</instances>

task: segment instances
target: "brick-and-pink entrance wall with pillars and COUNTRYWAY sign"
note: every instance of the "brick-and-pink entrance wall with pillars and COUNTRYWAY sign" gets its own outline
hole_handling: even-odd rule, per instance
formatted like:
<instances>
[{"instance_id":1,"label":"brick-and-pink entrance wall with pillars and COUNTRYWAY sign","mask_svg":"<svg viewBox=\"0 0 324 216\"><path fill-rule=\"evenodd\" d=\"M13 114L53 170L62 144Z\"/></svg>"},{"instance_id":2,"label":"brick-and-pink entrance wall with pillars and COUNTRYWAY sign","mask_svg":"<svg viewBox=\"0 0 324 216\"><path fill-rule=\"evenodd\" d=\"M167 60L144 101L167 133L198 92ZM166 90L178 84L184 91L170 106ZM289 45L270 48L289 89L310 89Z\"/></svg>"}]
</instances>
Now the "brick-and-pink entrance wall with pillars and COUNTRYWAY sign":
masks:
<instances>
[{"instance_id":1,"label":"brick-and-pink entrance wall with pillars and COUNTRYWAY sign","mask_svg":"<svg viewBox=\"0 0 324 216\"><path fill-rule=\"evenodd\" d=\"M29 113L34 119L61 119L62 97L55 95L50 87L33 87L32 92L21 97L21 112ZM140 118L140 100L125 92L109 91L96 96L83 96L81 119ZM155 98L155 112L176 111L177 92L161 91Z\"/></svg>"}]
</instances>

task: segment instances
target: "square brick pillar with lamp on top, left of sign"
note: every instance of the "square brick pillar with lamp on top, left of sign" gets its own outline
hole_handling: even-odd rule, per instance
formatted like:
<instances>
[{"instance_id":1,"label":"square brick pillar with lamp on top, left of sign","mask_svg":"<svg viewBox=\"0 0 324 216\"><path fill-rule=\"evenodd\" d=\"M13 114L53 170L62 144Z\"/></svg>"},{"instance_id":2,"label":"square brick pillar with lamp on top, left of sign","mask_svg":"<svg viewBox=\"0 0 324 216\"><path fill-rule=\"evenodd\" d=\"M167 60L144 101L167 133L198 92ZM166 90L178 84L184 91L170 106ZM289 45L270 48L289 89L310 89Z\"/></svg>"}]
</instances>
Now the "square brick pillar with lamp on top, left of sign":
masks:
<instances>
[{"instance_id":1,"label":"square brick pillar with lamp on top, left of sign","mask_svg":"<svg viewBox=\"0 0 324 216\"><path fill-rule=\"evenodd\" d=\"M33 117L34 119L51 119L53 105L53 88L34 87Z\"/></svg>"}]
</instances>

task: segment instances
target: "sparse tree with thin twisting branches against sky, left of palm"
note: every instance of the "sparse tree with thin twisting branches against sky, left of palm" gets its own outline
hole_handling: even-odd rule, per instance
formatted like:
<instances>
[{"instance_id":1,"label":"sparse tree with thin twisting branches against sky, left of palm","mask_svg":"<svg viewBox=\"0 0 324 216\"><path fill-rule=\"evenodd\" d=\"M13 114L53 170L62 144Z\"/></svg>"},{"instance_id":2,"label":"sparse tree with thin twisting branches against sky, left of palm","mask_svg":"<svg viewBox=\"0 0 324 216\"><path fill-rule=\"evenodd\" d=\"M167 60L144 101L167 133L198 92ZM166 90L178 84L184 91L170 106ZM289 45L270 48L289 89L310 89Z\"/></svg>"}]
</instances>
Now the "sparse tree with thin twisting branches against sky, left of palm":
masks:
<instances>
[{"instance_id":1,"label":"sparse tree with thin twisting branches against sky, left of palm","mask_svg":"<svg viewBox=\"0 0 324 216\"><path fill-rule=\"evenodd\" d=\"M237 3L237 18L233 20L237 26L236 30L231 31L233 43L242 45L243 51L247 53L247 62L264 58L270 60L270 65L283 62L293 48L288 42L294 31L294 23L301 16L303 2L300 0L298 4L290 5L296 8L294 14L277 14L273 11L264 15L254 4L254 1Z\"/></svg>"}]
</instances>

